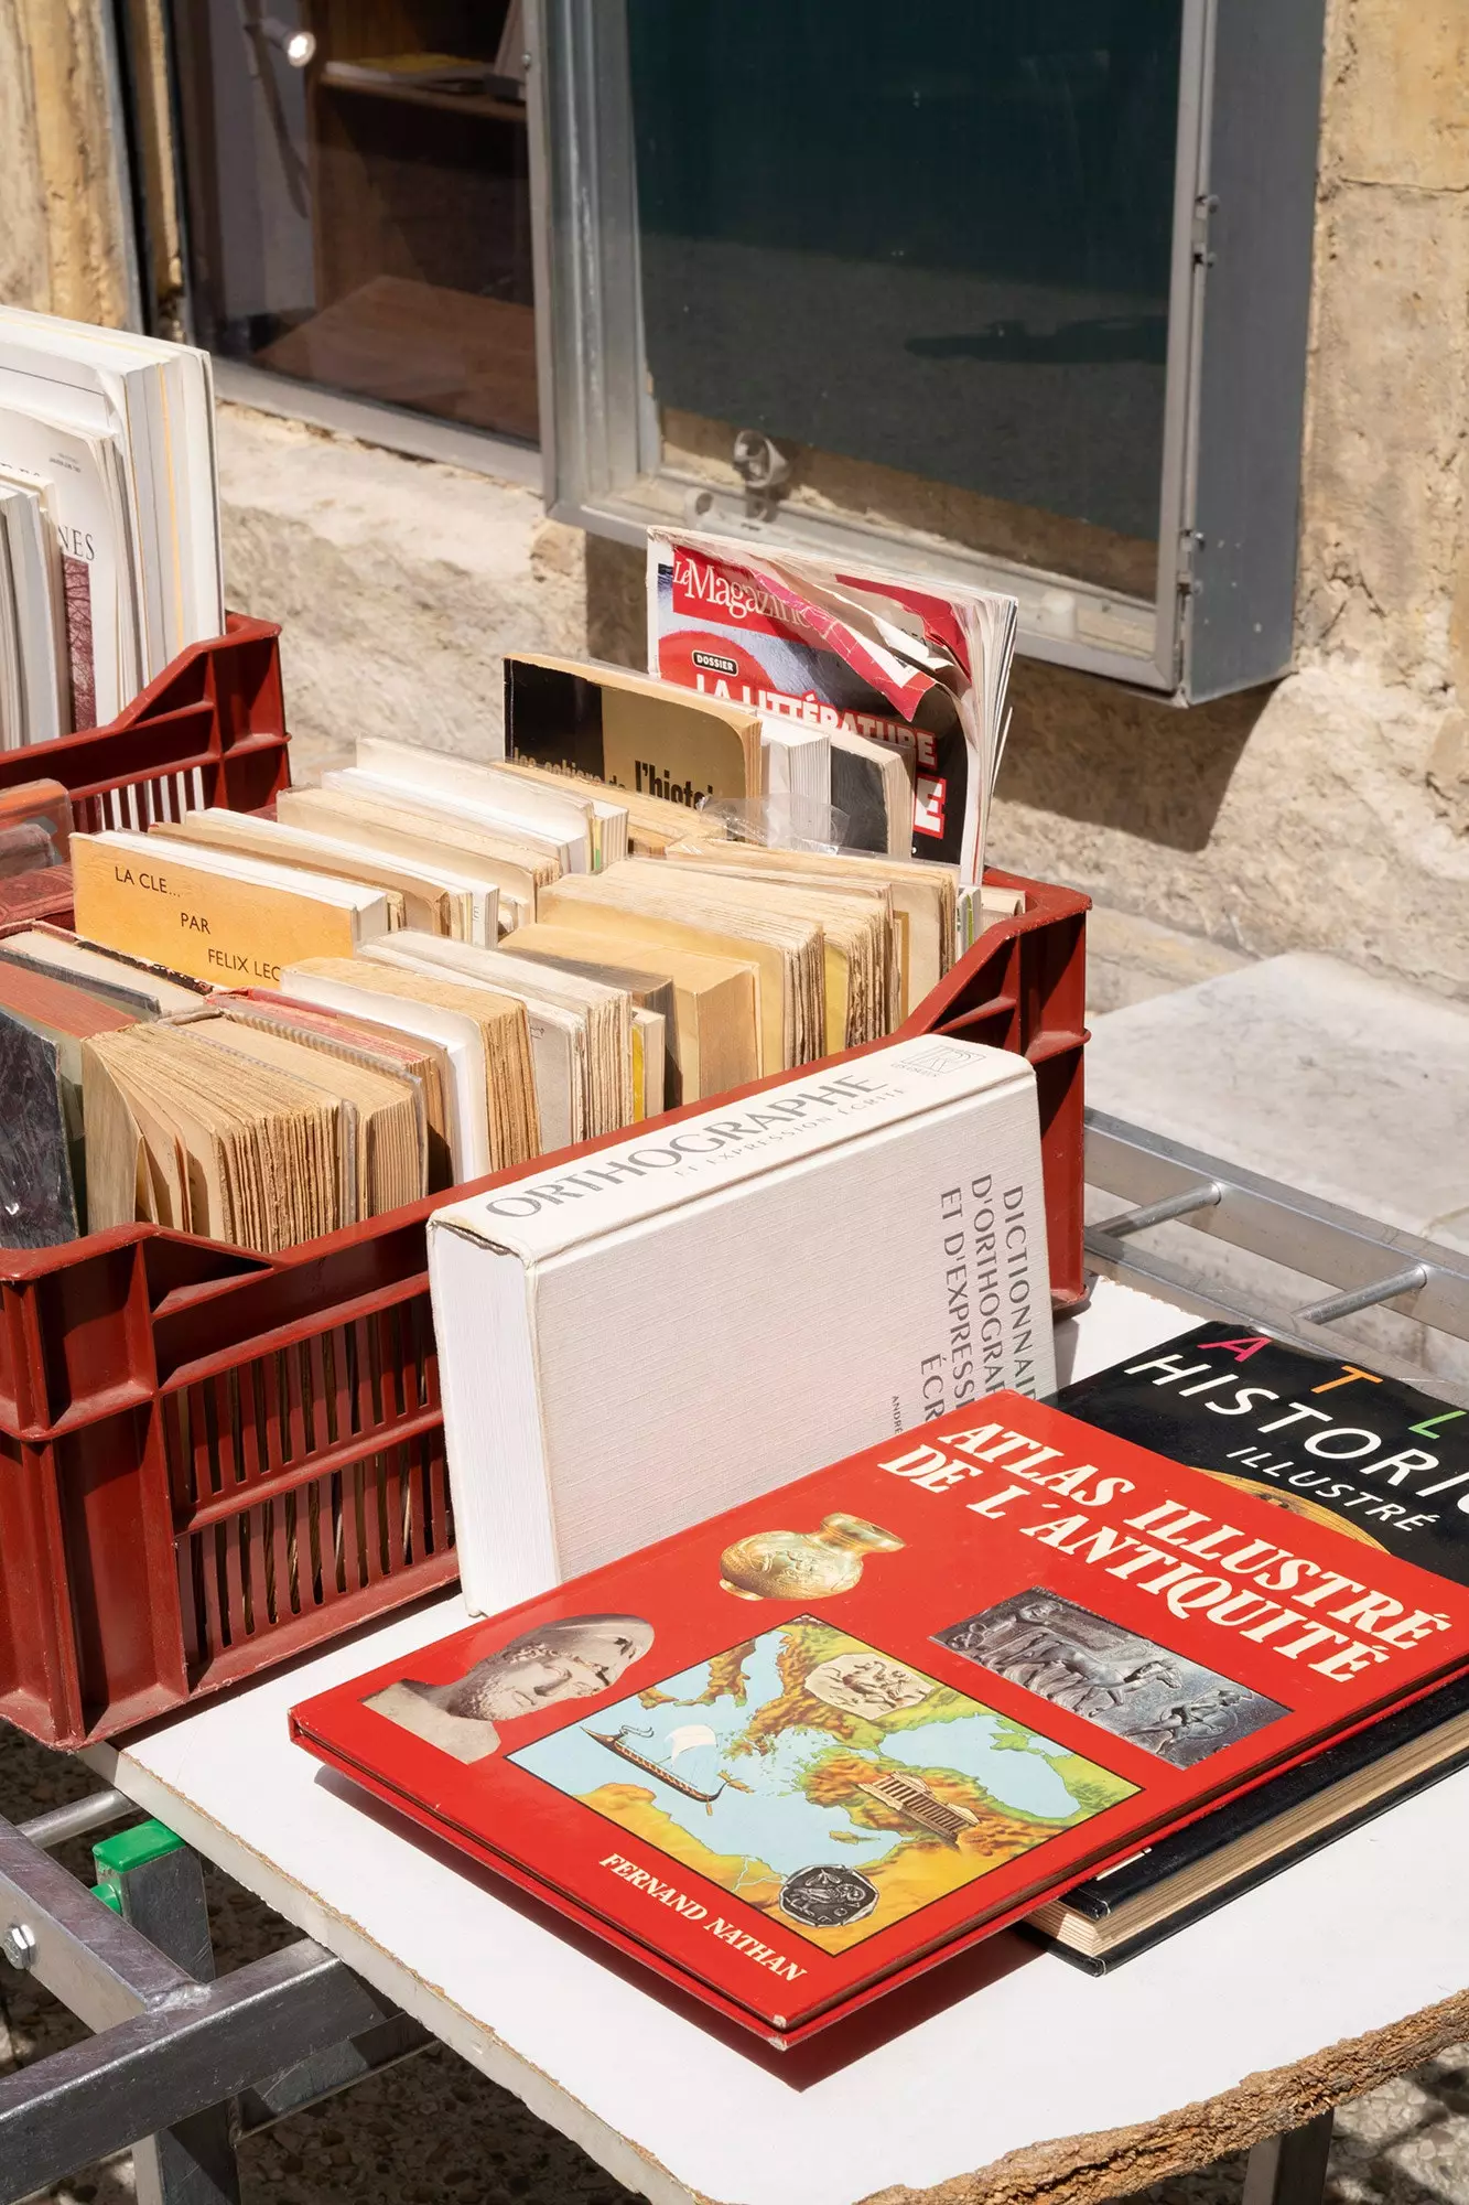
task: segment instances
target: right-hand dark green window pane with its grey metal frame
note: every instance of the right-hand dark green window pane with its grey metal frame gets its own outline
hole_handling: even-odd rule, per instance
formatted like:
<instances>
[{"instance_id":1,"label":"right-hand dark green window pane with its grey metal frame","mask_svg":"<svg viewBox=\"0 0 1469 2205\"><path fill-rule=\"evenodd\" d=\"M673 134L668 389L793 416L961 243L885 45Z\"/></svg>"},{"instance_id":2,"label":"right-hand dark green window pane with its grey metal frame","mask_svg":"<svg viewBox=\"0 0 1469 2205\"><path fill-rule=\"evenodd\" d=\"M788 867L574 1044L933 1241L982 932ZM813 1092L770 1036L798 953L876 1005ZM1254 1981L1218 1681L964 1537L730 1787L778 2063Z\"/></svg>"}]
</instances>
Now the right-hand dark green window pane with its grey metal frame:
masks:
<instances>
[{"instance_id":1,"label":"right-hand dark green window pane with its grey metal frame","mask_svg":"<svg viewBox=\"0 0 1469 2205\"><path fill-rule=\"evenodd\" d=\"M1290 657L1321 0L543 0L554 505Z\"/></svg>"}]
</instances>

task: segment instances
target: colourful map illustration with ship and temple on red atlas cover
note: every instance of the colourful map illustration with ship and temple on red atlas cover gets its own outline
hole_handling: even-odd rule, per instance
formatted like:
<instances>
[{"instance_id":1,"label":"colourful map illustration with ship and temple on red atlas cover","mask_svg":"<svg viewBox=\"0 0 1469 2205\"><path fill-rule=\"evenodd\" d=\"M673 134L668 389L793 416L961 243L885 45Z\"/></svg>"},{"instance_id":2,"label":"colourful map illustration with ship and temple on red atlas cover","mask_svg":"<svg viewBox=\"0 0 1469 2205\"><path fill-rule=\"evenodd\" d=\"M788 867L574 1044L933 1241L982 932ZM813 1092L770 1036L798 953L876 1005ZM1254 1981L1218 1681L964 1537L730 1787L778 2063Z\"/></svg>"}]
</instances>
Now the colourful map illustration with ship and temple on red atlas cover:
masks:
<instances>
[{"instance_id":1,"label":"colourful map illustration with ship and temple on red atlas cover","mask_svg":"<svg viewBox=\"0 0 1469 2205\"><path fill-rule=\"evenodd\" d=\"M816 1616L510 1760L834 1954L1136 1790Z\"/></svg>"}]
</instances>

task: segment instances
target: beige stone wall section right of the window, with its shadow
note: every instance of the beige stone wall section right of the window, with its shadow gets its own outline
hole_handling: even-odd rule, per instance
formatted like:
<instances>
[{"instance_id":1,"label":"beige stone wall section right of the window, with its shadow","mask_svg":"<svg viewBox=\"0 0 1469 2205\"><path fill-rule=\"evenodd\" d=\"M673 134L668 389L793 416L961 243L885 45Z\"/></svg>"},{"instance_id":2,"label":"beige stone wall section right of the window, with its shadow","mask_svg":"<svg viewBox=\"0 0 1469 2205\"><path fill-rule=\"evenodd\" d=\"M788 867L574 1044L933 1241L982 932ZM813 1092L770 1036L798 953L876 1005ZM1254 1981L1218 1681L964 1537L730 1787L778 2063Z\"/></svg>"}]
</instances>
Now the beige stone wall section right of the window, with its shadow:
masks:
<instances>
[{"instance_id":1,"label":"beige stone wall section right of the window, with its shadow","mask_svg":"<svg viewBox=\"0 0 1469 2205\"><path fill-rule=\"evenodd\" d=\"M1176 712L1021 664L995 856L1469 994L1469 4L1330 11L1299 670Z\"/></svg>"}]
</instances>

